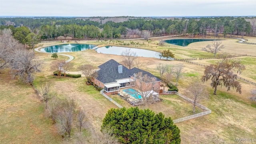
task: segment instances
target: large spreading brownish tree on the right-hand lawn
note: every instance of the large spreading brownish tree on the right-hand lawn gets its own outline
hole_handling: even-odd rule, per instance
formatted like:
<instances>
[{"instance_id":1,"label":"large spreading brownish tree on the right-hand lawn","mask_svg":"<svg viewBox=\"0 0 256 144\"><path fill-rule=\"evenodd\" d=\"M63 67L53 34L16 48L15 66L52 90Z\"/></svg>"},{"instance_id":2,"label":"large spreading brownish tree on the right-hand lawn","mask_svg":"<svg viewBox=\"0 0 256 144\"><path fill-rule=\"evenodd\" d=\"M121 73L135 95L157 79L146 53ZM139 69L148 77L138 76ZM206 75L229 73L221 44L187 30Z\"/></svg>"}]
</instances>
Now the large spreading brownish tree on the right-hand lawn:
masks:
<instances>
[{"instance_id":1,"label":"large spreading brownish tree on the right-hand lawn","mask_svg":"<svg viewBox=\"0 0 256 144\"><path fill-rule=\"evenodd\" d=\"M222 86L222 83L228 88L227 91L233 87L236 88L236 92L241 94L242 86L236 81L237 75L234 74L234 69L240 74L245 67L239 61L224 59L221 62L217 62L216 65L210 65L205 68L202 82L212 81L211 86L214 88L213 94L216 94L217 86Z\"/></svg>"}]
</instances>

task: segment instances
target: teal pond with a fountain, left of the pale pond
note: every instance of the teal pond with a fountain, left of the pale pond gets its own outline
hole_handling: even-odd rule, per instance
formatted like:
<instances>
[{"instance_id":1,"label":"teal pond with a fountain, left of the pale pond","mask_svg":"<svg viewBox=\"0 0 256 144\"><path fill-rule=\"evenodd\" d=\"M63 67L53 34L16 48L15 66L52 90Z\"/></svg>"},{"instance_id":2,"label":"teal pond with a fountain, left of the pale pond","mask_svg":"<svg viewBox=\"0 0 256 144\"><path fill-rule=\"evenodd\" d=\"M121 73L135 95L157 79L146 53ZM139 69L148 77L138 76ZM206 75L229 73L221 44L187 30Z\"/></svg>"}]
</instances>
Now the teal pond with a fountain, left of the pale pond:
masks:
<instances>
[{"instance_id":1,"label":"teal pond with a fountain, left of the pale pond","mask_svg":"<svg viewBox=\"0 0 256 144\"><path fill-rule=\"evenodd\" d=\"M42 52L58 53L58 52L78 52L82 50L88 50L94 48L95 45L92 44L61 44L56 46L48 46L41 48Z\"/></svg>"}]
</instances>

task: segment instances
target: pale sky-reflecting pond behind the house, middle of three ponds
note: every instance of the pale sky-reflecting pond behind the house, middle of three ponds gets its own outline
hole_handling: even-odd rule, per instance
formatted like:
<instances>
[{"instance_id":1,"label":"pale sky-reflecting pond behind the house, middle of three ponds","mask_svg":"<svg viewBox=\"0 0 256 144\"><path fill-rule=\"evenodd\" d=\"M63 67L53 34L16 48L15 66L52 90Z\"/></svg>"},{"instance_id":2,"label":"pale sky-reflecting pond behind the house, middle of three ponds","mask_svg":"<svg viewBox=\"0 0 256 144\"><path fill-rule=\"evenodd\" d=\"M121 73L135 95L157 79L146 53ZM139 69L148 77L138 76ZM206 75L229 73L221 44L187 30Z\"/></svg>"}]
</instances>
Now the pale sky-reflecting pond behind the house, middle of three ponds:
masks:
<instances>
[{"instance_id":1,"label":"pale sky-reflecting pond behind the house, middle of three ponds","mask_svg":"<svg viewBox=\"0 0 256 144\"><path fill-rule=\"evenodd\" d=\"M102 54L116 54L116 55L122 55L122 52L125 51L126 47L120 47L120 46L104 46L100 48L96 48L95 50L98 53ZM144 50L140 48L131 48L132 52L136 52L137 56L147 57L147 58L159 58L157 55L159 52L155 52L152 50Z\"/></svg>"}]
</instances>

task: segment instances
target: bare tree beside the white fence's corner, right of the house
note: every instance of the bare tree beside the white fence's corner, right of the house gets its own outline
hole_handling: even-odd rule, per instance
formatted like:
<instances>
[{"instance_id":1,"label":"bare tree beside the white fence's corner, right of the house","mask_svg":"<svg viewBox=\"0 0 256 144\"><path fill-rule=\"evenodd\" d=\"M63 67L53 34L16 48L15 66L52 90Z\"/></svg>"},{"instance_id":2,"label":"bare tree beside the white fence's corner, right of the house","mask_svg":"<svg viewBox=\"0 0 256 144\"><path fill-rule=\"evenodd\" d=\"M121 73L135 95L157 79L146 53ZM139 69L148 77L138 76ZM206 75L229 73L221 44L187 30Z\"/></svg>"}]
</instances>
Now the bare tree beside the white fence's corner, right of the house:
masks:
<instances>
[{"instance_id":1,"label":"bare tree beside the white fence's corner, right of the house","mask_svg":"<svg viewBox=\"0 0 256 144\"><path fill-rule=\"evenodd\" d=\"M196 104L208 97L206 88L200 82L193 82L186 90L186 95L193 100L193 112L195 113Z\"/></svg>"}]
</instances>

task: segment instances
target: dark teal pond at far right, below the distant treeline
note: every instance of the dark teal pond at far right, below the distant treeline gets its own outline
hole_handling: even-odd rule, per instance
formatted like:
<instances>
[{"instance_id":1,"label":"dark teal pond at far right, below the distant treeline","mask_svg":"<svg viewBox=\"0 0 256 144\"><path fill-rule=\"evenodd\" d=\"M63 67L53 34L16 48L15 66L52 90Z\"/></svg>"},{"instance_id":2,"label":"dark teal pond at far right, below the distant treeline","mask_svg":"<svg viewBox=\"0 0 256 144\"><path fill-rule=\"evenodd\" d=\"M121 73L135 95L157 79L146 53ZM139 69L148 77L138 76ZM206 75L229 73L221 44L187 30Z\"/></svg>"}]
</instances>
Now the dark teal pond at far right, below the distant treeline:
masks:
<instances>
[{"instance_id":1,"label":"dark teal pond at far right, below the distant treeline","mask_svg":"<svg viewBox=\"0 0 256 144\"><path fill-rule=\"evenodd\" d=\"M168 44L175 44L179 46L188 46L192 42L204 42L204 41L213 41L212 39L173 39L166 40L165 42Z\"/></svg>"}]
</instances>

